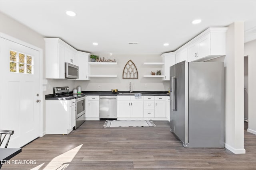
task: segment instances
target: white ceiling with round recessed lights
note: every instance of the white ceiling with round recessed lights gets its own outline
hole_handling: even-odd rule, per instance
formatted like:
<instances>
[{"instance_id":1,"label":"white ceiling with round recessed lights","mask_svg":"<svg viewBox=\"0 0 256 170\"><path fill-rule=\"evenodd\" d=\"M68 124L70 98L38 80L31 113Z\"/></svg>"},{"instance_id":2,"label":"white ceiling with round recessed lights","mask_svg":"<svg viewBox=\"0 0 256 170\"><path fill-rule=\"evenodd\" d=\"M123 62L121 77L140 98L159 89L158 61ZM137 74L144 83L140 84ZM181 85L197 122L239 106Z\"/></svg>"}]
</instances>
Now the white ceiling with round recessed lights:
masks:
<instances>
[{"instance_id":1,"label":"white ceiling with round recessed lights","mask_svg":"<svg viewBox=\"0 0 256 170\"><path fill-rule=\"evenodd\" d=\"M45 37L99 54L162 54L234 21L244 21L245 42L256 39L256 0L0 0L0 12ZM198 18L202 22L193 25Z\"/></svg>"}]
</instances>

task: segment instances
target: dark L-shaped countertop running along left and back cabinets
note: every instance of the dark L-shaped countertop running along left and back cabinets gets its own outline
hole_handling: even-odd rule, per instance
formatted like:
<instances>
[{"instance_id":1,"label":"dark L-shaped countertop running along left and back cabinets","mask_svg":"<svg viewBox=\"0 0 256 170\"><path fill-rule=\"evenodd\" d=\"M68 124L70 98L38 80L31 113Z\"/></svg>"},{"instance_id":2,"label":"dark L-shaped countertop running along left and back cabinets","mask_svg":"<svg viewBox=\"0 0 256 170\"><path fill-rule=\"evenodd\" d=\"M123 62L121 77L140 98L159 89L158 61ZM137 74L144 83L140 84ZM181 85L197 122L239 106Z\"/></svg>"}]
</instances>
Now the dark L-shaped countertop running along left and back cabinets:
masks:
<instances>
[{"instance_id":1,"label":"dark L-shaped countertop running along left and back cabinets","mask_svg":"<svg viewBox=\"0 0 256 170\"><path fill-rule=\"evenodd\" d=\"M82 96L87 96L87 95L91 95L91 96L127 96L127 95L134 95L134 93L141 93L142 96L170 96L170 94L168 94L168 92L166 91L133 91L133 94L125 94L125 95L121 95L119 93L129 93L129 91L118 91L116 93L113 93L111 91L82 91L82 94L72 94L72 92L70 92L69 95L66 96L61 96L60 97L54 97L53 94L46 94L45 95L45 100L71 100L71 99L75 99L75 98L80 98ZM63 98L64 97L64 98Z\"/></svg>"}]
</instances>

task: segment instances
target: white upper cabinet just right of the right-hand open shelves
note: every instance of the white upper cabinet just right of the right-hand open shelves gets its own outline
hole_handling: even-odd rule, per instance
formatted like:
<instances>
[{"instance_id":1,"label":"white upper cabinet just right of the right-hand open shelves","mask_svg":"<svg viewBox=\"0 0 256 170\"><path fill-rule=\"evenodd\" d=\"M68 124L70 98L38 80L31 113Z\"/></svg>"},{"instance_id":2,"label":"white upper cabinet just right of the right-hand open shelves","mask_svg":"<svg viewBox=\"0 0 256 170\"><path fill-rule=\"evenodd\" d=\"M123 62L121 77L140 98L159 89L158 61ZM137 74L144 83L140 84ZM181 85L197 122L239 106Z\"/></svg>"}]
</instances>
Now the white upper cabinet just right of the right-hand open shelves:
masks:
<instances>
[{"instance_id":1,"label":"white upper cabinet just right of the right-hand open shelves","mask_svg":"<svg viewBox=\"0 0 256 170\"><path fill-rule=\"evenodd\" d=\"M161 55L164 65L162 66L163 80L170 80L170 66L175 64L175 52L164 53Z\"/></svg>"}]
</instances>

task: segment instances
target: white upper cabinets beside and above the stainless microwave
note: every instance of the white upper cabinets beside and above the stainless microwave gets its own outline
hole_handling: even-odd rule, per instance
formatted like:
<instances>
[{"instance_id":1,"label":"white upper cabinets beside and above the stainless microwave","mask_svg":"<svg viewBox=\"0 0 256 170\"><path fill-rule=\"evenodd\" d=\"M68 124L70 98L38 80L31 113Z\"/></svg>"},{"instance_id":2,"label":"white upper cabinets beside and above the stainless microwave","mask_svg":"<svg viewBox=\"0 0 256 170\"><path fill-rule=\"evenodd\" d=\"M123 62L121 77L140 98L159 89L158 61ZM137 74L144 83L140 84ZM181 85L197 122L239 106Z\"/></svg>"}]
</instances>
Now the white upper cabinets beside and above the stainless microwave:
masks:
<instances>
[{"instance_id":1,"label":"white upper cabinets beside and above the stainless microwave","mask_svg":"<svg viewBox=\"0 0 256 170\"><path fill-rule=\"evenodd\" d=\"M65 78L65 62L77 65L76 49L59 38L45 38L45 77Z\"/></svg>"}]
</instances>

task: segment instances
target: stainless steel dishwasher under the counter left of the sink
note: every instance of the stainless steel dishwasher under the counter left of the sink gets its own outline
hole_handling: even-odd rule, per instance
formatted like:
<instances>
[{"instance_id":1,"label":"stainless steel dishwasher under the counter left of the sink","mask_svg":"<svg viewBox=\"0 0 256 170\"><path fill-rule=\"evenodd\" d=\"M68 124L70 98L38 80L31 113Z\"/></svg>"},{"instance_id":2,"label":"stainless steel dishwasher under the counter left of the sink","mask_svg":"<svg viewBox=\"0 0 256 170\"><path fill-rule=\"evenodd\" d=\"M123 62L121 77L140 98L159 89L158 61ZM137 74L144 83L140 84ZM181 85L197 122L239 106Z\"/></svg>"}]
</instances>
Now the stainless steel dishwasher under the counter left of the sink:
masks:
<instances>
[{"instance_id":1,"label":"stainless steel dishwasher under the counter left of the sink","mask_svg":"<svg viewBox=\"0 0 256 170\"><path fill-rule=\"evenodd\" d=\"M100 96L100 119L117 119L117 96Z\"/></svg>"}]
</instances>

